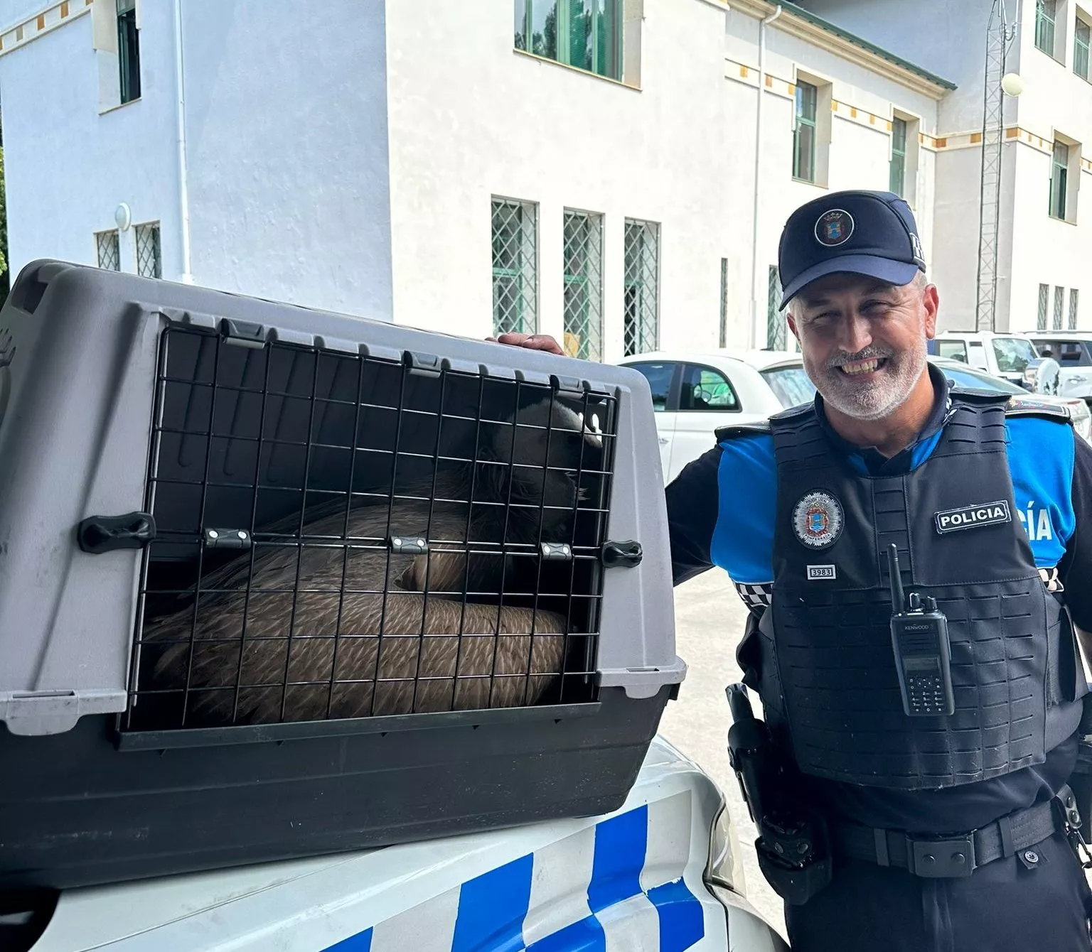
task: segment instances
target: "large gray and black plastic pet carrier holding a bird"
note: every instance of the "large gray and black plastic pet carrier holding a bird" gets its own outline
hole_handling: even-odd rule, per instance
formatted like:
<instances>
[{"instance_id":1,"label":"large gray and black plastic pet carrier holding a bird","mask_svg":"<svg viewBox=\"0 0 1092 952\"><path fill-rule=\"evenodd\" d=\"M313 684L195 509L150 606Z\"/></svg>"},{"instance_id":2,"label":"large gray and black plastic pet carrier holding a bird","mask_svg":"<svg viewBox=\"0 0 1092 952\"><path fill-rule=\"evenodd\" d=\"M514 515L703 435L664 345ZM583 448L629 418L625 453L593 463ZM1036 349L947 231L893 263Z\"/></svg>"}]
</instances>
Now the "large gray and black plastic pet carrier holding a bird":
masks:
<instances>
[{"instance_id":1,"label":"large gray and black plastic pet carrier holding a bird","mask_svg":"<svg viewBox=\"0 0 1092 952\"><path fill-rule=\"evenodd\" d=\"M634 370L55 261L0 311L0 888L619 807L685 674Z\"/></svg>"}]
</instances>

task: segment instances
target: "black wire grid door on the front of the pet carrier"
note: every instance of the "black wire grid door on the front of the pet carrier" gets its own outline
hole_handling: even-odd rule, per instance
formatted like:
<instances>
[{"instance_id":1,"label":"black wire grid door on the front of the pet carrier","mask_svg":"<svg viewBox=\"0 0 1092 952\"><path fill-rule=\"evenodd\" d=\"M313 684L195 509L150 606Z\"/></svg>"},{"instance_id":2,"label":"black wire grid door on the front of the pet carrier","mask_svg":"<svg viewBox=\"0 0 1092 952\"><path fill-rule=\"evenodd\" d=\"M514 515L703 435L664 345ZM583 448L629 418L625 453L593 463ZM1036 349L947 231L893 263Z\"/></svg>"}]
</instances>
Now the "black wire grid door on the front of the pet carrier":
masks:
<instances>
[{"instance_id":1,"label":"black wire grid door on the front of the pet carrier","mask_svg":"<svg viewBox=\"0 0 1092 952\"><path fill-rule=\"evenodd\" d=\"M122 730L597 700L616 396L415 364L164 331Z\"/></svg>"}]
</instances>

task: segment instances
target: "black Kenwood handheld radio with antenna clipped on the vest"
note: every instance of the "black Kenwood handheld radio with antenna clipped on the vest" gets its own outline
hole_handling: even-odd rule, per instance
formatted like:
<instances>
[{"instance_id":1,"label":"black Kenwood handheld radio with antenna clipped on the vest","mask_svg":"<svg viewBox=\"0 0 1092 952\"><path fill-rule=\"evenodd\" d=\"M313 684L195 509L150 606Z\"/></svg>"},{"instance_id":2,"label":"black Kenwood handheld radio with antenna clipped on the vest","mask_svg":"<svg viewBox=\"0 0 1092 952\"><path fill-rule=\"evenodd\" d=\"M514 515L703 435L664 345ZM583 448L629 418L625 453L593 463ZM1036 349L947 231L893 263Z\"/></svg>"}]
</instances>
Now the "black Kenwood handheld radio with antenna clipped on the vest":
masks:
<instances>
[{"instance_id":1,"label":"black Kenwood handheld radio with antenna clipped on the vest","mask_svg":"<svg viewBox=\"0 0 1092 952\"><path fill-rule=\"evenodd\" d=\"M891 570L891 645L894 648L902 710L911 717L956 713L948 619L936 599L910 593L909 607L899 574L899 550L888 549Z\"/></svg>"}]
</instances>

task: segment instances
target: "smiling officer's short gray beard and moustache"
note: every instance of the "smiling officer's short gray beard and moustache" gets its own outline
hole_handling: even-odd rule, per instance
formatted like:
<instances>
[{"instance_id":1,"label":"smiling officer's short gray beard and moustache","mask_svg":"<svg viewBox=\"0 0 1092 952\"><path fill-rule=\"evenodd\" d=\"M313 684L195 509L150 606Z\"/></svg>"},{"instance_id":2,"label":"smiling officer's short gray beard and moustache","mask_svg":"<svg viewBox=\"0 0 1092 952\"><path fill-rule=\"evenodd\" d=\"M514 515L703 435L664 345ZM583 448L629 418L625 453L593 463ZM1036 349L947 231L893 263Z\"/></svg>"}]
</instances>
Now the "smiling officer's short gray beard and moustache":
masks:
<instances>
[{"instance_id":1,"label":"smiling officer's short gray beard and moustache","mask_svg":"<svg viewBox=\"0 0 1092 952\"><path fill-rule=\"evenodd\" d=\"M856 354L835 354L822 367L810 366L805 370L823 401L845 416L858 420L875 420L901 406L925 369L925 341L910 350L897 352L890 347L865 347ZM839 369L856 360L880 361L873 380L856 380Z\"/></svg>"}]
</instances>

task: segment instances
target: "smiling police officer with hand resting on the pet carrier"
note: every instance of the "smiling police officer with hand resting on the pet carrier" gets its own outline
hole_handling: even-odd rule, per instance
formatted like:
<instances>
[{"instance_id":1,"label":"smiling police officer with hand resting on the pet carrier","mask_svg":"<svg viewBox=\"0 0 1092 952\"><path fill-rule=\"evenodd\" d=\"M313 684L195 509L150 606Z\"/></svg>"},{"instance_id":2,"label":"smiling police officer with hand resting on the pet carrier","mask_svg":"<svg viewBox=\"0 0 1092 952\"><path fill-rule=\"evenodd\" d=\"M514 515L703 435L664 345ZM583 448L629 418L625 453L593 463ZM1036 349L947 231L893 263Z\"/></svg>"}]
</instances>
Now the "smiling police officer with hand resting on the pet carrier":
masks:
<instances>
[{"instance_id":1,"label":"smiling police officer with hand resting on the pet carrier","mask_svg":"<svg viewBox=\"0 0 1092 952\"><path fill-rule=\"evenodd\" d=\"M666 491L675 583L717 566L750 607L737 654L781 793L821 821L826 874L785 907L793 948L1089 950L1067 784L1092 447L1064 410L952 388L927 361L938 294L897 195L803 205L779 264L815 401L717 430ZM919 615L895 605L892 544ZM947 633L915 641L914 622L897 644L900 610Z\"/></svg>"}]
</instances>

